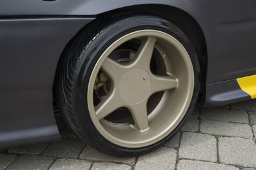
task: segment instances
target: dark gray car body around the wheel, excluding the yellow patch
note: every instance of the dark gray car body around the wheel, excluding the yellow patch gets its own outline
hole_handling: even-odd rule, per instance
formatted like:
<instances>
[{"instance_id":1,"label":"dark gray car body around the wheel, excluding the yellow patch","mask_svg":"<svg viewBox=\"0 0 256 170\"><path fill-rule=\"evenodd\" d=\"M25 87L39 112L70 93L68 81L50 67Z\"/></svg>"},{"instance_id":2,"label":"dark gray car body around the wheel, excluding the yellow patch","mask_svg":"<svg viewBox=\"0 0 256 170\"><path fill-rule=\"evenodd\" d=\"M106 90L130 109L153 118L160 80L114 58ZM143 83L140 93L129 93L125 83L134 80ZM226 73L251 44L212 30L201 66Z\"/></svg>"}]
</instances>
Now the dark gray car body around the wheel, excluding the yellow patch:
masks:
<instances>
[{"instance_id":1,"label":"dark gray car body around the wheel, excluding the yellow patch","mask_svg":"<svg viewBox=\"0 0 256 170\"><path fill-rule=\"evenodd\" d=\"M145 4L184 11L202 29L204 106L251 99L236 78L256 74L255 0L1 0L0 148L60 139L52 86L65 46L99 14Z\"/></svg>"}]
</instances>

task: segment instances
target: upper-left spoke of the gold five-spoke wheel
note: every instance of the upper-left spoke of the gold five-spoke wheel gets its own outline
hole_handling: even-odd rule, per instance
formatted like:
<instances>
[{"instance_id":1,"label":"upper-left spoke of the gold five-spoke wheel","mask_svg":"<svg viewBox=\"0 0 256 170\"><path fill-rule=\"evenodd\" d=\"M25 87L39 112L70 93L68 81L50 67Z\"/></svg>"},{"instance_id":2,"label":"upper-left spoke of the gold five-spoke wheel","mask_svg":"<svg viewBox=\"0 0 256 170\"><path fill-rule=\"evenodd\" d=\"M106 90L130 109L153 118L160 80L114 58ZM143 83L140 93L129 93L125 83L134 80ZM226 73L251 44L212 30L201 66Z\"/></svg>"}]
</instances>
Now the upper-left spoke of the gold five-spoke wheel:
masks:
<instances>
[{"instance_id":1,"label":"upper-left spoke of the gold five-spoke wheel","mask_svg":"<svg viewBox=\"0 0 256 170\"><path fill-rule=\"evenodd\" d=\"M104 60L101 68L105 73L108 74L108 76L111 78L111 80L114 81L114 83L117 83L117 81L122 77L122 75L125 73L126 68L122 64L119 64L113 59L110 59L107 57L107 59Z\"/></svg>"}]
</instances>

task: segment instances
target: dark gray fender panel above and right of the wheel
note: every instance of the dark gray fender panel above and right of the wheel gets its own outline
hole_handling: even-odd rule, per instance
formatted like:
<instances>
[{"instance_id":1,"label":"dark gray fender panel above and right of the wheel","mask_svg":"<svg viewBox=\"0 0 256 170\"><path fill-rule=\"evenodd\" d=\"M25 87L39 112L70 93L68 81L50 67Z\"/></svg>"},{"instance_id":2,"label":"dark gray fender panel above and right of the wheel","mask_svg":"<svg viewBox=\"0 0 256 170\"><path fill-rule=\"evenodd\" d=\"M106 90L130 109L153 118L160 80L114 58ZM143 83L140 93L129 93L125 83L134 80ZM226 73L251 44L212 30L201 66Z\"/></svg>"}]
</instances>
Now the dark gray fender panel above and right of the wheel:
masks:
<instances>
[{"instance_id":1,"label":"dark gray fender panel above and right of the wheel","mask_svg":"<svg viewBox=\"0 0 256 170\"><path fill-rule=\"evenodd\" d=\"M0 15L98 15L136 4L165 4L195 18L207 43L207 84L256 74L256 57L250 48L256 41L255 0L2 0Z\"/></svg>"}]
</instances>

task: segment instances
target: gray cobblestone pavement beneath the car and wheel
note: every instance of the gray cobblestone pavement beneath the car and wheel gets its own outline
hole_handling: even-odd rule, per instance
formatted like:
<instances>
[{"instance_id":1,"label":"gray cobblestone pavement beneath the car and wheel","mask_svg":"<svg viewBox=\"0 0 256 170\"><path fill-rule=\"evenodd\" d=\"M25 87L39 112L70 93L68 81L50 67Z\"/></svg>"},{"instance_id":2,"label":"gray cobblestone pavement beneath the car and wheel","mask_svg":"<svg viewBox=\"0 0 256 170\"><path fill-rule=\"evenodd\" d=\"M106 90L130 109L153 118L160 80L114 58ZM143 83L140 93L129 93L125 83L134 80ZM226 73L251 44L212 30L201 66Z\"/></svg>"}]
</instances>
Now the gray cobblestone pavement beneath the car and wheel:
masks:
<instances>
[{"instance_id":1,"label":"gray cobblestone pavement beneath the car and wheel","mask_svg":"<svg viewBox=\"0 0 256 170\"><path fill-rule=\"evenodd\" d=\"M0 169L256 169L256 100L197 109L171 141L140 157L112 157L59 121L62 141L0 150Z\"/></svg>"}]
</instances>

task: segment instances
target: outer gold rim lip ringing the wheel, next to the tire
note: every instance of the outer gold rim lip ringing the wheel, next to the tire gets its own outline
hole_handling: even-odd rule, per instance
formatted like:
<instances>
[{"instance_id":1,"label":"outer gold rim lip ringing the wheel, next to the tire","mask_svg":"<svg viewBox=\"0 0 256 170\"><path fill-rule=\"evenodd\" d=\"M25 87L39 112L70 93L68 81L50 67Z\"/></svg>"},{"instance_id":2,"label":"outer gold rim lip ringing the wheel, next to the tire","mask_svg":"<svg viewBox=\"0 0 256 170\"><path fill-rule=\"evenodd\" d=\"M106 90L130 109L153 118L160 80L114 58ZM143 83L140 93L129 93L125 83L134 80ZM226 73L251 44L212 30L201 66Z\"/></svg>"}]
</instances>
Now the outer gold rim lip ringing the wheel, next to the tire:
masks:
<instances>
[{"instance_id":1,"label":"outer gold rim lip ringing the wheel, next to the tire","mask_svg":"<svg viewBox=\"0 0 256 170\"><path fill-rule=\"evenodd\" d=\"M131 141L124 141L122 139L118 139L115 136L113 136L112 134L110 134L108 131L106 131L106 129L102 125L102 120L98 120L98 118L96 117L95 110L94 110L94 104L93 104L93 90L92 89L93 89L93 84L94 84L95 78L97 76L97 73L99 72L100 67L102 66L102 63L104 62L104 60L110 55L111 52L113 52L113 50L115 50L116 47L122 45L122 43L125 43L126 41L129 41L133 38L138 38L138 35L140 35L141 37L142 36L156 36L157 38L164 39L165 41L168 41L170 44L175 46L175 48L180 52L180 55L183 57L184 62L185 62L184 64L186 65L186 68L188 69L188 71L187 71L188 72L188 82L189 82L190 86L188 88L188 94L186 95L186 101L185 101L184 107L182 108L182 111L181 111L182 113L179 114L179 117L177 117L177 118L175 118L175 120L173 120L172 124L170 124L168 127L166 127L165 131L157 134L154 138L150 138L148 140L143 140L141 142L131 142ZM139 147L143 147L143 146L152 145L152 144L156 143L157 141L160 141L161 139L165 138L168 134L170 134L170 132L172 132L184 118L184 116L189 108L189 105L191 103L192 96L193 96L194 81L195 81L195 77L194 77L193 65L192 65L191 59L189 57L189 54L186 51L186 49L184 48L184 46L177 39L175 39L170 34L167 34L166 32L157 31L157 30L153 30L153 29L134 31L134 32L126 34L125 36L122 36L121 38L117 39L99 57L99 60L97 61L97 63L95 64L95 67L93 68L93 71L92 71L92 74L90 76L90 80L88 83L88 93L87 93L88 111L90 113L90 117L92 118L92 122L95 125L97 131L99 131L99 133L102 136L104 136L104 138L106 138L108 141L111 141L111 143L114 143L115 145L123 146L126 148L139 148Z\"/></svg>"}]
</instances>

